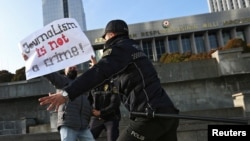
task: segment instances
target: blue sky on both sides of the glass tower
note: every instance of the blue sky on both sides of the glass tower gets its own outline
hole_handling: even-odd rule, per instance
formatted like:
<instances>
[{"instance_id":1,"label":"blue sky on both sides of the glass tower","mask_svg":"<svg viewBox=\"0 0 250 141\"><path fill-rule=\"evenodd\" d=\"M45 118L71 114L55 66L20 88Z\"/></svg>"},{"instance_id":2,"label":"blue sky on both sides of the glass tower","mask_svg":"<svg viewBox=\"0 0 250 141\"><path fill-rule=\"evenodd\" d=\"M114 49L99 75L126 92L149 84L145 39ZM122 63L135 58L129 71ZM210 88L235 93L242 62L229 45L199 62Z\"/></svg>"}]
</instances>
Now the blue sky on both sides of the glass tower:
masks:
<instances>
[{"instance_id":1,"label":"blue sky on both sides of the glass tower","mask_svg":"<svg viewBox=\"0 0 250 141\"><path fill-rule=\"evenodd\" d=\"M127 24L209 13L207 0L83 0L87 30L113 19ZM0 71L15 74L25 62L18 43L43 28L42 0L1 0Z\"/></svg>"}]
</instances>

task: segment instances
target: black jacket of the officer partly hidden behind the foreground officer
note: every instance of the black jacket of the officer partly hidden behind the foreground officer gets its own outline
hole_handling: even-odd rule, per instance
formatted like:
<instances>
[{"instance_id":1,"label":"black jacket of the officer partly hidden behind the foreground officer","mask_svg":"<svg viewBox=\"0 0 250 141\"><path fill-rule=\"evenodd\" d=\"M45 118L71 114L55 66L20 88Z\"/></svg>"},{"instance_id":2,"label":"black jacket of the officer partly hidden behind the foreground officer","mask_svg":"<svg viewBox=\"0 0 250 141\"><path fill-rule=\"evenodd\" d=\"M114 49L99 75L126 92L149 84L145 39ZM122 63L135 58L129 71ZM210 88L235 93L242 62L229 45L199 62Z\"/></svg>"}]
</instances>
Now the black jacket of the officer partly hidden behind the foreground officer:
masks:
<instances>
[{"instance_id":1,"label":"black jacket of the officer partly hidden behind the foreground officer","mask_svg":"<svg viewBox=\"0 0 250 141\"><path fill-rule=\"evenodd\" d=\"M101 112L103 120L120 120L120 96L112 81L107 81L103 85L90 91L88 99L93 109Z\"/></svg>"}]
</instances>

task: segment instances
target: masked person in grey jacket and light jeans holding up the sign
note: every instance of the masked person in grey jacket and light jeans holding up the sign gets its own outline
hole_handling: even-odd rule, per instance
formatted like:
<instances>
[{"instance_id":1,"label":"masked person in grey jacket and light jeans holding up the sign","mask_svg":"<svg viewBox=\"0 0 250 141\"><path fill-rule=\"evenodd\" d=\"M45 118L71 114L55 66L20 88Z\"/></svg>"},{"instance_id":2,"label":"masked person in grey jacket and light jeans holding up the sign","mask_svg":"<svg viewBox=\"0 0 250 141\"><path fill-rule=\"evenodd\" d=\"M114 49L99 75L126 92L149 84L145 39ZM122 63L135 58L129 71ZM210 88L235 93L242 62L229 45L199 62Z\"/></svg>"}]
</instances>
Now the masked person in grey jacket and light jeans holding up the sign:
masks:
<instances>
[{"instance_id":1,"label":"masked person in grey jacket and light jeans holding up the sign","mask_svg":"<svg viewBox=\"0 0 250 141\"><path fill-rule=\"evenodd\" d=\"M56 88L69 85L77 77L77 67L67 67L65 75L54 72L45 75ZM61 141L95 141L90 129L91 106L87 96L82 95L74 101L69 101L59 106L57 127Z\"/></svg>"}]
</instances>

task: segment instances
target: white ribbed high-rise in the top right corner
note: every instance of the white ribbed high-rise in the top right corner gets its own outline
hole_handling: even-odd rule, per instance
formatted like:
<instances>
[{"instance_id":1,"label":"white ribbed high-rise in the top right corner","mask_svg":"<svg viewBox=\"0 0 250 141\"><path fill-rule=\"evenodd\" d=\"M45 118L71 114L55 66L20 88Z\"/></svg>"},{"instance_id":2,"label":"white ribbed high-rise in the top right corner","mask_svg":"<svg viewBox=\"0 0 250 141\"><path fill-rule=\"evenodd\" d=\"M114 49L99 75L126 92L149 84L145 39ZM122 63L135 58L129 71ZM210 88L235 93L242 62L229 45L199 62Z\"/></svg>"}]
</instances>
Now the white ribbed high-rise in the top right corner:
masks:
<instances>
[{"instance_id":1,"label":"white ribbed high-rise in the top right corner","mask_svg":"<svg viewBox=\"0 0 250 141\"><path fill-rule=\"evenodd\" d=\"M250 0L207 0L210 12L247 8Z\"/></svg>"}]
</instances>

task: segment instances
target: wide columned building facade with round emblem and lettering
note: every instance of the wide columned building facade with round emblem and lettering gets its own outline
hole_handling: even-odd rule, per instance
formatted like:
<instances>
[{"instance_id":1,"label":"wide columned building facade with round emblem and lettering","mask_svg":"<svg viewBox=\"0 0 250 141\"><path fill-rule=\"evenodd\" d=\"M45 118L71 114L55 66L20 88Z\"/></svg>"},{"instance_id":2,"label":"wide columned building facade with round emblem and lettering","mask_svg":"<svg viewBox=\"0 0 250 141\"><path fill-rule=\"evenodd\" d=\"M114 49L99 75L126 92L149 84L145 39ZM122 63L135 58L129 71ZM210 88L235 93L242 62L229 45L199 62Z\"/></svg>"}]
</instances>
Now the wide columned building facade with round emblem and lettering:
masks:
<instances>
[{"instance_id":1,"label":"wide columned building facade with round emblem and lettering","mask_svg":"<svg viewBox=\"0 0 250 141\"><path fill-rule=\"evenodd\" d=\"M226 45L228 40L241 38L250 44L250 8L206 13L130 24L130 37L153 61L164 53L205 53ZM88 30L86 35L101 55L103 29Z\"/></svg>"}]
</instances>

